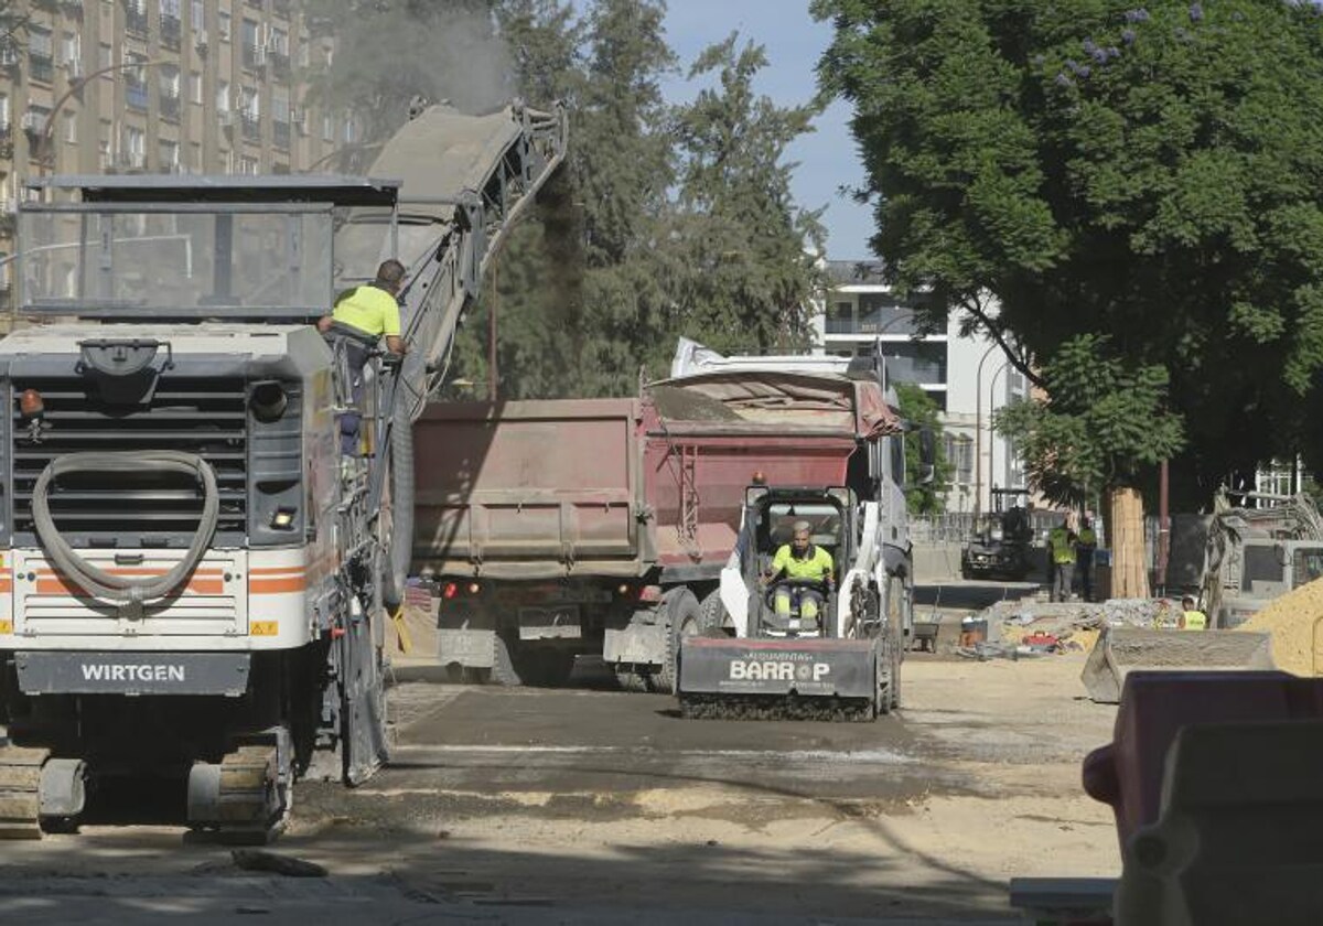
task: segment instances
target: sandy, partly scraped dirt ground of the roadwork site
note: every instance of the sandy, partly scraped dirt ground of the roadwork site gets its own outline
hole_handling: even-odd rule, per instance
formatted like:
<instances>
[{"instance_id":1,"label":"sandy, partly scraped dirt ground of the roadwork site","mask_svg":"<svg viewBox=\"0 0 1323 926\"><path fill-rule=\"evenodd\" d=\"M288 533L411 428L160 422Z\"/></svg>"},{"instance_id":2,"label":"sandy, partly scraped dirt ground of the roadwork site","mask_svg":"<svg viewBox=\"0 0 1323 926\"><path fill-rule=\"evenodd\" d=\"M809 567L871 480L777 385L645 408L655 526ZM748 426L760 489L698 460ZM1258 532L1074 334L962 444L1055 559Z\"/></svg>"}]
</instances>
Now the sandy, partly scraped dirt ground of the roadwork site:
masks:
<instances>
[{"instance_id":1,"label":"sandy, partly scraped dirt ground of the roadwork site","mask_svg":"<svg viewBox=\"0 0 1323 926\"><path fill-rule=\"evenodd\" d=\"M277 847L327 878L237 872L163 811L5 844L0 906L89 923L1013 922L1011 877L1119 869L1110 810L1080 787L1114 718L1085 700L1082 661L912 657L898 717L826 725L401 669L392 766L353 791L300 787Z\"/></svg>"}]
</instances>

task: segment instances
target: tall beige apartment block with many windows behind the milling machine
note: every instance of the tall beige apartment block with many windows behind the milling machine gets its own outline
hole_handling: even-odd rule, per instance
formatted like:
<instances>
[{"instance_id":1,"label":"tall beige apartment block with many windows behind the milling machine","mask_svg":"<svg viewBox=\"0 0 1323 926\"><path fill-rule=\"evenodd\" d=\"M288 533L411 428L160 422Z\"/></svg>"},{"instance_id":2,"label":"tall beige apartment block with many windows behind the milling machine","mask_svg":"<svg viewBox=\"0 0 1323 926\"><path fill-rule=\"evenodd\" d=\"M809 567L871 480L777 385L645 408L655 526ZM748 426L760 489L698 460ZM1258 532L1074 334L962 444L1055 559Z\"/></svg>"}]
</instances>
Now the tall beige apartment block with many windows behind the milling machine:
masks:
<instances>
[{"instance_id":1,"label":"tall beige apartment block with many windows behind the milling machine","mask_svg":"<svg viewBox=\"0 0 1323 926\"><path fill-rule=\"evenodd\" d=\"M298 77L332 41L296 0L11 0L8 20L0 251L26 177L290 173L356 140L307 103Z\"/></svg>"}]
</instances>

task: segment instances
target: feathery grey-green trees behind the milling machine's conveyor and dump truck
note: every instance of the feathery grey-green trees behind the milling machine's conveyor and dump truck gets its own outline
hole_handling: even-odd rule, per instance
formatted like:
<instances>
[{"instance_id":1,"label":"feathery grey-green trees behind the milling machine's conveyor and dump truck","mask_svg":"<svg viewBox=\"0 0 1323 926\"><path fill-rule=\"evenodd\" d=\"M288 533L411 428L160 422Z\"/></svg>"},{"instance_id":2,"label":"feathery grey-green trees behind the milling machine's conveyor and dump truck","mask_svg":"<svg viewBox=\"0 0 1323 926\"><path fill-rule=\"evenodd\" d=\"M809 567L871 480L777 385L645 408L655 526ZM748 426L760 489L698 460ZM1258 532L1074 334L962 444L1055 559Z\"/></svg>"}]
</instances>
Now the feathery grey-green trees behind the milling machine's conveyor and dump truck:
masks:
<instances>
[{"instance_id":1,"label":"feathery grey-green trees behind the milling machine's conveyor and dump truck","mask_svg":"<svg viewBox=\"0 0 1323 926\"><path fill-rule=\"evenodd\" d=\"M497 303L500 394L627 396L665 374L676 339L726 352L806 343L816 216L794 205L786 146L810 107L753 91L762 49L736 37L695 63L713 86L668 107L675 67L660 3L556 0L497 8L525 95L564 99L566 168L542 196L542 233L501 255L456 349L456 372L486 394L490 308Z\"/></svg>"}]
</instances>

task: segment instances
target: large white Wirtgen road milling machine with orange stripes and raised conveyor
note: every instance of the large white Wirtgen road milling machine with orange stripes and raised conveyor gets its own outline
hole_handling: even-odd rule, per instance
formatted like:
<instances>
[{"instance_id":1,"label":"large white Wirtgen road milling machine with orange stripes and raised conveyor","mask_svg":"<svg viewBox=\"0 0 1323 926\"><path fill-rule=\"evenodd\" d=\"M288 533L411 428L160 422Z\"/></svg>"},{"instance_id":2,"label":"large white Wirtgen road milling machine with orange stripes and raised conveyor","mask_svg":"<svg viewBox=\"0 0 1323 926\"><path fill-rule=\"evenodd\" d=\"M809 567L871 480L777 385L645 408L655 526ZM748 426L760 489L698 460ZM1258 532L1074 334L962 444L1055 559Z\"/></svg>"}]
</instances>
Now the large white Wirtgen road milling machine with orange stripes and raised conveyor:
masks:
<instances>
[{"instance_id":1,"label":"large white Wirtgen road milling machine with orange stripes and raised conveyor","mask_svg":"<svg viewBox=\"0 0 1323 926\"><path fill-rule=\"evenodd\" d=\"M29 323L0 340L0 832L77 825L132 775L187 780L194 829L265 840L296 779L373 774L411 423L564 149L560 108L434 106L373 179L29 184ZM355 403L312 323L389 257L410 351Z\"/></svg>"}]
</instances>

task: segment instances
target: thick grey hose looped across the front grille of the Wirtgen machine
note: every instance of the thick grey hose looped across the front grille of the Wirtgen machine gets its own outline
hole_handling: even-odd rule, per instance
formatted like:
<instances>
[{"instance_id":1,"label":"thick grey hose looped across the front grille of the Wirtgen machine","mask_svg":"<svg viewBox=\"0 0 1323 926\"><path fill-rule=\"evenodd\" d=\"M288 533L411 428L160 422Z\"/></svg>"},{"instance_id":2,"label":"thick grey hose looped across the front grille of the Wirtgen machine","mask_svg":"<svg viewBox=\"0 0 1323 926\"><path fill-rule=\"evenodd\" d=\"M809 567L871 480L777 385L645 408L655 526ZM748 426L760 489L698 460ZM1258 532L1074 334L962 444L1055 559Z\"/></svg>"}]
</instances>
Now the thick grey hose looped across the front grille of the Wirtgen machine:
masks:
<instances>
[{"instance_id":1,"label":"thick grey hose looped across the front grille of the Wirtgen machine","mask_svg":"<svg viewBox=\"0 0 1323 926\"><path fill-rule=\"evenodd\" d=\"M56 528L56 523L50 517L48 497L50 483L71 472L160 472L197 476L197 480L202 484L202 515L198 519L193 542L189 544L184 558L164 575L135 579L97 569L78 556L61 536L58 528ZM183 585L202 560L208 544L212 542L220 509L221 500L220 492L216 488L216 472L210 464L196 454L185 454L176 450L65 454L46 464L46 468L41 471L41 476L37 478L37 484L32 489L32 520L37 526L37 536L41 538L41 545L50 556L56 568L85 591L111 602L142 603L155 601L164 598Z\"/></svg>"}]
</instances>

